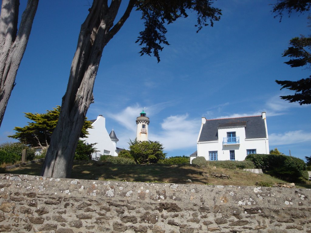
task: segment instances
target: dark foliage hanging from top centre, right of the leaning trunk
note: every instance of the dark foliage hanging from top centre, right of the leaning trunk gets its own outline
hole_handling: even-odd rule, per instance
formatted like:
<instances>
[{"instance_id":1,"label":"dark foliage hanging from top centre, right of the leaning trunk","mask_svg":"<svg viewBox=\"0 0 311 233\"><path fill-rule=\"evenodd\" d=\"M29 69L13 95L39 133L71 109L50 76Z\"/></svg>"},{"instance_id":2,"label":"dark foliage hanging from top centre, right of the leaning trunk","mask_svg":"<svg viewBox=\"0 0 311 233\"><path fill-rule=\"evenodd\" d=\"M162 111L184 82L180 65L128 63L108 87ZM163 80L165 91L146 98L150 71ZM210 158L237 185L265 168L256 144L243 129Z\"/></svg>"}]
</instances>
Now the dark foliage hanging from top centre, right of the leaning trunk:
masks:
<instances>
[{"instance_id":1,"label":"dark foliage hanging from top centre, right of the leaning trunk","mask_svg":"<svg viewBox=\"0 0 311 233\"><path fill-rule=\"evenodd\" d=\"M187 17L187 10L197 13L197 32L203 26L213 26L213 21L219 21L221 10L212 7L212 1L207 0L139 0L136 3L137 11L142 11L145 29L139 33L136 43L141 46L142 55L153 55L160 62L159 51L162 51L162 44L169 45L165 34L167 30L165 23L170 24L180 17Z\"/></svg>"}]
</instances>

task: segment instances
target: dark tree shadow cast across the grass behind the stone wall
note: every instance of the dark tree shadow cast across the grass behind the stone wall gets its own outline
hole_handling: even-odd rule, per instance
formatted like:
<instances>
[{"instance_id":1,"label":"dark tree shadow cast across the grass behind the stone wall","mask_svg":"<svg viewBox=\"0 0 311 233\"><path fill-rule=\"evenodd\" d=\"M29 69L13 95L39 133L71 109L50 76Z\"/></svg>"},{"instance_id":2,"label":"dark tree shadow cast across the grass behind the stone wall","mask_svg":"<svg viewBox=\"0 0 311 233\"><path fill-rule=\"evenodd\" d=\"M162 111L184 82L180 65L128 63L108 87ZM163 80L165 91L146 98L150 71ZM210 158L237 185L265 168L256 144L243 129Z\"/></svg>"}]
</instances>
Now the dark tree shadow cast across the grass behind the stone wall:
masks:
<instances>
[{"instance_id":1,"label":"dark tree shadow cast across the grass behind the stone wall","mask_svg":"<svg viewBox=\"0 0 311 233\"><path fill-rule=\"evenodd\" d=\"M2 169L1 173L27 174L39 176L42 163L31 163L13 169ZM202 176L195 166L190 164L111 164L105 162L75 161L71 174L72 179L86 180L118 180L136 182L187 183L188 179L195 184L206 184L207 179Z\"/></svg>"}]
</instances>

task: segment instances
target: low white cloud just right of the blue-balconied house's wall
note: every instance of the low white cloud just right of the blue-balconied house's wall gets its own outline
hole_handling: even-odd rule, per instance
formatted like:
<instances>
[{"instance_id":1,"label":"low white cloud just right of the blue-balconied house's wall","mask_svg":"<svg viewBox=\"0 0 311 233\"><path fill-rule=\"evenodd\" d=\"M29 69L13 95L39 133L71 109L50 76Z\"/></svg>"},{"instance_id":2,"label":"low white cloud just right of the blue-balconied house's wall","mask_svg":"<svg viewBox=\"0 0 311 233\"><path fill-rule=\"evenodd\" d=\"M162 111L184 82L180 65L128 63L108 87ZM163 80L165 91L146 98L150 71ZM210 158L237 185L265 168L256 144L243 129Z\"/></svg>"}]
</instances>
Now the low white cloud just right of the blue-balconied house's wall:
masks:
<instances>
[{"instance_id":1,"label":"low white cloud just right of the blue-balconied house's wall","mask_svg":"<svg viewBox=\"0 0 311 233\"><path fill-rule=\"evenodd\" d=\"M311 133L303 130L287 131L285 133L272 133L269 135L269 145L287 145L303 142L311 143Z\"/></svg>"}]
</instances>

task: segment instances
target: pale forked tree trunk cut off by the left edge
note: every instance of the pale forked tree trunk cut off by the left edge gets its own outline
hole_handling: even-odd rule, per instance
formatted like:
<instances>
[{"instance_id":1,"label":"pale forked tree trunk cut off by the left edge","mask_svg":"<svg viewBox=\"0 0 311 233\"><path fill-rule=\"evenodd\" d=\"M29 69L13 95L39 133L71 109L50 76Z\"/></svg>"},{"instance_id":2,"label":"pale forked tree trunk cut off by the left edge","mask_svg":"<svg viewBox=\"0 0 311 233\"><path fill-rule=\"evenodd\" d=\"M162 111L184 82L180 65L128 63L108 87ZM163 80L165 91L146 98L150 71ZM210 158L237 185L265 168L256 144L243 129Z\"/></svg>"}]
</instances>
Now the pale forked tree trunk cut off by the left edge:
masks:
<instances>
[{"instance_id":1,"label":"pale forked tree trunk cut off by the left edge","mask_svg":"<svg viewBox=\"0 0 311 233\"><path fill-rule=\"evenodd\" d=\"M19 0L2 0L0 16L0 126L21 59L25 53L39 0L28 0L17 31Z\"/></svg>"}]
</instances>

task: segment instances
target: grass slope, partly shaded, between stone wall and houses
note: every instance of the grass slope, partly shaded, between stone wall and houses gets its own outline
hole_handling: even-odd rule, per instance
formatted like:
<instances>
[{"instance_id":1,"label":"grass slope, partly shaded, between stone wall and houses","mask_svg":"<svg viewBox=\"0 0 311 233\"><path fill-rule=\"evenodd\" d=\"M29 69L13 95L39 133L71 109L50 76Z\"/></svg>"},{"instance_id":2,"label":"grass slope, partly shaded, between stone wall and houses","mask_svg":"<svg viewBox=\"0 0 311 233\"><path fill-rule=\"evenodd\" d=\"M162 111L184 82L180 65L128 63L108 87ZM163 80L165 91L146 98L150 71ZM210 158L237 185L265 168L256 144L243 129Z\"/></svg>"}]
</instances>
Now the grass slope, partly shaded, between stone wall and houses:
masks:
<instances>
[{"instance_id":1,"label":"grass slope, partly shaded, between stone wall and houses","mask_svg":"<svg viewBox=\"0 0 311 233\"><path fill-rule=\"evenodd\" d=\"M0 168L0 173L28 174L39 176L42 163L31 163L24 166L6 170ZM211 172L225 173L231 179L211 177ZM286 183L266 174L253 174L242 170L229 170L211 167L198 167L191 164L167 165L120 165L97 161L75 161L72 169L72 179L86 180L115 180L136 182L163 182L177 184L200 184L200 185L236 185L255 186L256 182ZM297 188L311 188L311 185L296 184Z\"/></svg>"}]
</instances>

